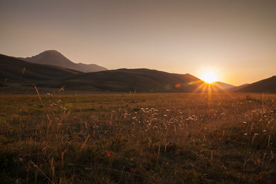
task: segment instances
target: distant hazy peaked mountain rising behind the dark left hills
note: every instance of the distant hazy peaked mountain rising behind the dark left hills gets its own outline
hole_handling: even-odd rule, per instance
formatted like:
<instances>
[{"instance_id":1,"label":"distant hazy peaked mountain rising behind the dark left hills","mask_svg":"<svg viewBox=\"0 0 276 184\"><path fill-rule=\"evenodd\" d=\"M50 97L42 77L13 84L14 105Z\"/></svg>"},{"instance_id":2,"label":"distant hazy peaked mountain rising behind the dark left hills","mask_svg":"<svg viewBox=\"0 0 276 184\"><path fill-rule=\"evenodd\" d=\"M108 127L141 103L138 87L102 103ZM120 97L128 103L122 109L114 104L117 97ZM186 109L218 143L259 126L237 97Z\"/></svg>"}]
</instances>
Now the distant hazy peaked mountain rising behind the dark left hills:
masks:
<instances>
[{"instance_id":1,"label":"distant hazy peaked mountain rising behind the dark left hills","mask_svg":"<svg viewBox=\"0 0 276 184\"><path fill-rule=\"evenodd\" d=\"M70 68L73 70L78 70L80 72L99 72L103 70L108 70L96 64L83 64L83 63L73 63L69 59L63 56L57 50L46 50L37 54L33 57L19 58L24 61L29 61L32 63L46 64L46 65L57 65L63 68Z\"/></svg>"}]
</instances>

